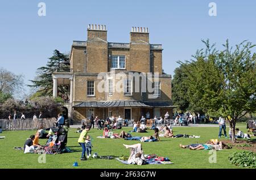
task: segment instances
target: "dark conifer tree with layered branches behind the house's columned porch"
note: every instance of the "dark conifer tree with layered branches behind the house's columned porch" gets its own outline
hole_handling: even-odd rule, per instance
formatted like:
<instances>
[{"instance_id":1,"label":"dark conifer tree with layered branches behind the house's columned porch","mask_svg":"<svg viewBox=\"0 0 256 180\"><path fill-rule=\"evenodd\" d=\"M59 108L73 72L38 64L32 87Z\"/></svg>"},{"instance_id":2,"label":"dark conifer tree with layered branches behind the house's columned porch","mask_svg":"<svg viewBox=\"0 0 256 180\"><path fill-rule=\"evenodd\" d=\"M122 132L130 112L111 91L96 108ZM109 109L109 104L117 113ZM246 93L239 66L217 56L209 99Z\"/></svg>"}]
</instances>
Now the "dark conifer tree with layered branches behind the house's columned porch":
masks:
<instances>
[{"instance_id":1,"label":"dark conifer tree with layered branches behind the house's columned porch","mask_svg":"<svg viewBox=\"0 0 256 180\"><path fill-rule=\"evenodd\" d=\"M39 96L52 96L53 92L53 72L69 72L70 62L67 54L60 53L59 50L53 51L53 56L49 58L46 66L38 68L38 75L35 80L30 80L32 85L28 87L38 88L37 95ZM58 86L58 91L60 93L65 93L68 91L68 87Z\"/></svg>"}]
</instances>

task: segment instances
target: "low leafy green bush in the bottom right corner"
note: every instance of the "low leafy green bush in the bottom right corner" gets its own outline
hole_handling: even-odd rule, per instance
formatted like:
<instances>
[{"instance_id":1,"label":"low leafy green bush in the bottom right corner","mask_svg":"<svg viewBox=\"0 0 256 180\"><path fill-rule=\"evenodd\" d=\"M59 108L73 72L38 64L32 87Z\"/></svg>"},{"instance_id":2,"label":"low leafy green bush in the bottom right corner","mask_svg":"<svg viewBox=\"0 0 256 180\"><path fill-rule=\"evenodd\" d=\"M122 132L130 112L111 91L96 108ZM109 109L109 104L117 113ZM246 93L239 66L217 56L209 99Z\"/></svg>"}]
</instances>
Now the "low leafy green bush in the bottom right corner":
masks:
<instances>
[{"instance_id":1,"label":"low leafy green bush in the bottom right corner","mask_svg":"<svg viewBox=\"0 0 256 180\"><path fill-rule=\"evenodd\" d=\"M256 168L255 153L250 151L234 152L228 157L231 164L247 168Z\"/></svg>"}]
</instances>

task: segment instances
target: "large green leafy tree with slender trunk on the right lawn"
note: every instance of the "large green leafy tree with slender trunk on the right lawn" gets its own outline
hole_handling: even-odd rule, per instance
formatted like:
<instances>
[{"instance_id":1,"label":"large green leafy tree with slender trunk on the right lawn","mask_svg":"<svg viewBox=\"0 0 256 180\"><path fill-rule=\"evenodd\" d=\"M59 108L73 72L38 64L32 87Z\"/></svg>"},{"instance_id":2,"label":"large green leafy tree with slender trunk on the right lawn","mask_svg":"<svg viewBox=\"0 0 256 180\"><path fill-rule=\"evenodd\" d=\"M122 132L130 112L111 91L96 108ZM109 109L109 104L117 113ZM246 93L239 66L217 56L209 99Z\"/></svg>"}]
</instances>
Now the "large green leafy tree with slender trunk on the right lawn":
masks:
<instances>
[{"instance_id":1,"label":"large green leafy tree with slender trunk on the right lawn","mask_svg":"<svg viewBox=\"0 0 256 180\"><path fill-rule=\"evenodd\" d=\"M224 50L216 51L209 40L203 42L206 48L197 50L194 59L185 62L191 65L185 71L189 104L226 117L232 142L236 142L236 122L256 111L256 54L251 53L255 45L243 41L232 50L227 40Z\"/></svg>"}]
</instances>

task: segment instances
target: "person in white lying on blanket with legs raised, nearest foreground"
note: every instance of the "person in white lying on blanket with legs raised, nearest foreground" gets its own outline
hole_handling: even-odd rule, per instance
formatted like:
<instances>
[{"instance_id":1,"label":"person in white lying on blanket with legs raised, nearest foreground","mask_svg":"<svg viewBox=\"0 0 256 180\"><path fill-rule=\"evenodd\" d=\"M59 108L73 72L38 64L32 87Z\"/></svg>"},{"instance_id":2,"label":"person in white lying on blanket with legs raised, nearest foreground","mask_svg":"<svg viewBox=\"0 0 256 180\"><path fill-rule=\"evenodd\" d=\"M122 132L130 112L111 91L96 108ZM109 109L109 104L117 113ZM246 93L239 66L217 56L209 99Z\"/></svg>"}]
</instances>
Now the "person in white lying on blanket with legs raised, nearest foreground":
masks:
<instances>
[{"instance_id":1,"label":"person in white lying on blanket with legs raised, nearest foreground","mask_svg":"<svg viewBox=\"0 0 256 180\"><path fill-rule=\"evenodd\" d=\"M126 145L123 144L126 149L130 148L130 156L127 160L129 164L137 164L137 165L143 165L146 164L146 158L143 155L142 151L142 145L141 143L134 144L134 145Z\"/></svg>"}]
</instances>

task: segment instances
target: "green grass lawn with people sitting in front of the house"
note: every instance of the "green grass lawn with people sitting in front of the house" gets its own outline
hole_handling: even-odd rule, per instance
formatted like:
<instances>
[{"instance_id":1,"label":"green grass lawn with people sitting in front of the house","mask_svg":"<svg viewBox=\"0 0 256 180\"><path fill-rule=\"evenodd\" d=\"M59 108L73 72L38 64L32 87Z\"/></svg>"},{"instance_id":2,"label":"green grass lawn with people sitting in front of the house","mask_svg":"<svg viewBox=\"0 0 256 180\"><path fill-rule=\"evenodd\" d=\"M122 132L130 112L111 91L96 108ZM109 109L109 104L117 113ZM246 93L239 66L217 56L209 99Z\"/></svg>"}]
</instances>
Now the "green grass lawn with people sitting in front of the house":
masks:
<instances>
[{"instance_id":1,"label":"green grass lawn with people sitting in front of the house","mask_svg":"<svg viewBox=\"0 0 256 180\"><path fill-rule=\"evenodd\" d=\"M241 128L246 132L245 125ZM125 131L131 128L123 128ZM228 130L227 130L228 131ZM115 132L120 132L117 130ZM0 136L6 136L5 139L0 139L0 167L1 168L237 168L230 164L228 156L235 152L241 151L238 149L225 149L217 152L217 163L209 163L209 151L200 150L192 151L189 149L181 149L179 144L205 143L209 139L216 139L218 136L218 127L174 127L174 134L189 134L200 135L199 139L192 138L161 138L160 142L142 143L143 151L146 154L156 153L159 156L170 158L175 164L171 165L125 165L117 160L101 160L90 158L88 161L80 161L81 147L77 143L79 138L76 129L69 128L68 132L68 147L75 151L72 153L63 153L60 155L46 155L46 164L40 164L36 154L23 154L22 151L13 149L14 147L23 147L24 141L33 134L34 131L16 131L3 132ZM92 136L93 153L99 155L112 156L129 156L129 150L123 147L125 144L135 144L138 141L126 141L124 139L98 139L96 136L102 134L101 130L93 129L89 132ZM153 131L148 133L134 133L134 136L152 135ZM45 139L39 143L44 144ZM73 167L73 162L79 163L78 167Z\"/></svg>"}]
</instances>

